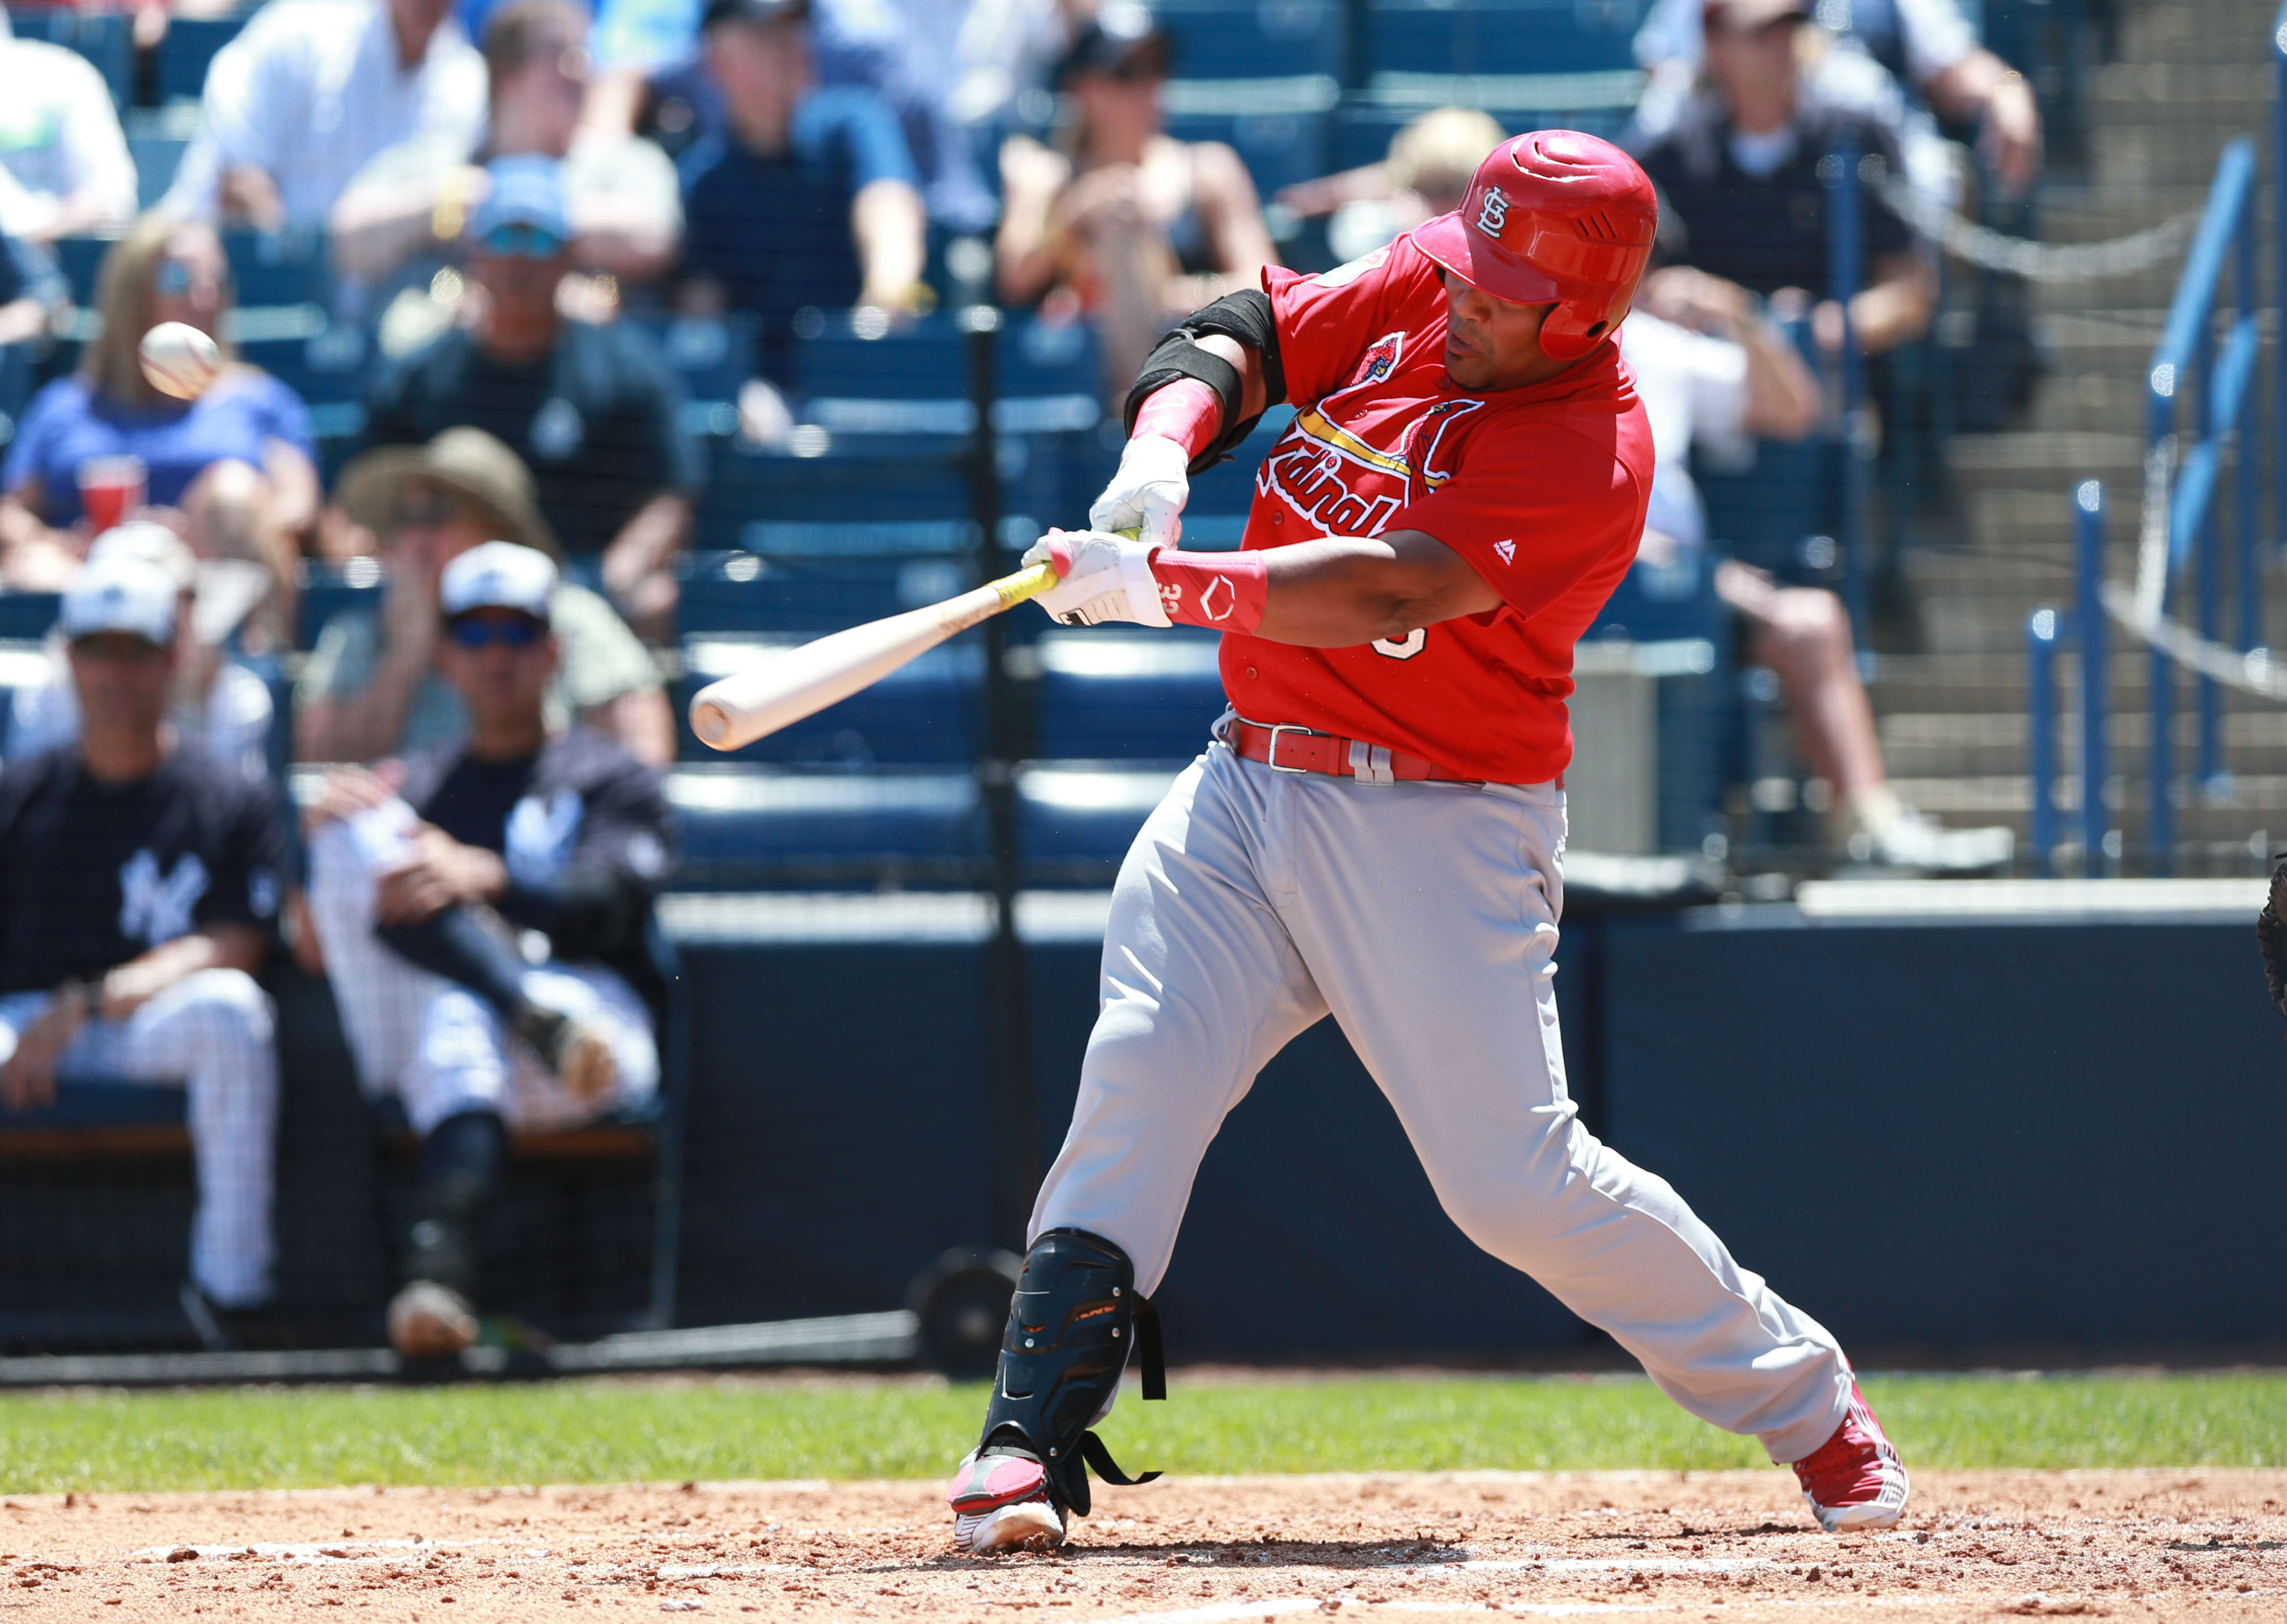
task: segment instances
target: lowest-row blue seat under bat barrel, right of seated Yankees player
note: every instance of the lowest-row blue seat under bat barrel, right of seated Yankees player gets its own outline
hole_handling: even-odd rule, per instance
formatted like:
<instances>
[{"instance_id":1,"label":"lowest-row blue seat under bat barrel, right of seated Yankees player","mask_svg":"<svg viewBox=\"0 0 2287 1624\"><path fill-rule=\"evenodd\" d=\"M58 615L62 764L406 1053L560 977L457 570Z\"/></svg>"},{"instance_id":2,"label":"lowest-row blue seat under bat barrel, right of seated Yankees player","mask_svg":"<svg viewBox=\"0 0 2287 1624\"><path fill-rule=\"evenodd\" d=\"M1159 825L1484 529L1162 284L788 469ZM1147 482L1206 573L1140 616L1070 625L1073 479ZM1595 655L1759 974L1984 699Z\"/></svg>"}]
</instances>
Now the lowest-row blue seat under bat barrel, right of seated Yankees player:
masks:
<instances>
[{"instance_id":1,"label":"lowest-row blue seat under bat barrel, right of seated Yankees player","mask_svg":"<svg viewBox=\"0 0 2287 1624\"><path fill-rule=\"evenodd\" d=\"M961 883L983 842L967 771L816 773L746 764L677 766L677 890Z\"/></svg>"}]
</instances>

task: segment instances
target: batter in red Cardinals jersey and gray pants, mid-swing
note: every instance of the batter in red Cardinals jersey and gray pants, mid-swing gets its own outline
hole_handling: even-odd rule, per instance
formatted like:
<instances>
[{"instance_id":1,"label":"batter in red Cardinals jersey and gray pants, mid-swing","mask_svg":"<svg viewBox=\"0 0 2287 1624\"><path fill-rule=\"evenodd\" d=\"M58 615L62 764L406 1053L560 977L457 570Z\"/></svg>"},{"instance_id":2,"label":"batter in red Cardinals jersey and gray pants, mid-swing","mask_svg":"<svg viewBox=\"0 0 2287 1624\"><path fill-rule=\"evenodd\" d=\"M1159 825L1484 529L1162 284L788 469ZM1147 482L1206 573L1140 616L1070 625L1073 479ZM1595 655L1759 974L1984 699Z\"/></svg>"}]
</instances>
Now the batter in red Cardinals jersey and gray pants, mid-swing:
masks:
<instances>
[{"instance_id":1,"label":"batter in red Cardinals jersey and gray pants, mid-swing","mask_svg":"<svg viewBox=\"0 0 2287 1624\"><path fill-rule=\"evenodd\" d=\"M1907 1478L1834 1338L1576 1119L1557 1041L1564 700L1628 570L1651 430L1612 343L1658 204L1617 146L1521 135L1464 206L1320 277L1267 270L1150 355L1091 531L1034 558L1066 624L1224 634L1230 709L1111 894L1079 1100L1031 1212L961 1551L1045 1549L1130 1482L1091 1427L1198 1160L1326 1013L1445 1212L1695 1416L1788 1462L1830 1533ZM1178 549L1189 473L1290 400L1237 554ZM1116 531L1139 531L1137 540Z\"/></svg>"}]
</instances>

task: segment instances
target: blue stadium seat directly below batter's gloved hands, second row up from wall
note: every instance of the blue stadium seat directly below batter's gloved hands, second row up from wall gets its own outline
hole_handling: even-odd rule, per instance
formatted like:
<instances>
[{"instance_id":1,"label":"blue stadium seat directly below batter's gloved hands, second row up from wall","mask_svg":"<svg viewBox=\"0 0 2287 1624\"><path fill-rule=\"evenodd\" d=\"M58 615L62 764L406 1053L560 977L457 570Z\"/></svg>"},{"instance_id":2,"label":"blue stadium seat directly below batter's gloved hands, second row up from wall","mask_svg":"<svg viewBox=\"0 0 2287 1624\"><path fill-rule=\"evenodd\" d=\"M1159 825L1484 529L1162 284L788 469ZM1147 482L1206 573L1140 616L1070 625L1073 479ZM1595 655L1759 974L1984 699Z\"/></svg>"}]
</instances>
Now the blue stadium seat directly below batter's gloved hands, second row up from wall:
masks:
<instances>
[{"instance_id":1,"label":"blue stadium seat directly below batter's gloved hands, second row up from wall","mask_svg":"<svg viewBox=\"0 0 2287 1624\"><path fill-rule=\"evenodd\" d=\"M1038 661L1041 759L1189 762L1224 714L1212 631L1047 631Z\"/></svg>"}]
</instances>

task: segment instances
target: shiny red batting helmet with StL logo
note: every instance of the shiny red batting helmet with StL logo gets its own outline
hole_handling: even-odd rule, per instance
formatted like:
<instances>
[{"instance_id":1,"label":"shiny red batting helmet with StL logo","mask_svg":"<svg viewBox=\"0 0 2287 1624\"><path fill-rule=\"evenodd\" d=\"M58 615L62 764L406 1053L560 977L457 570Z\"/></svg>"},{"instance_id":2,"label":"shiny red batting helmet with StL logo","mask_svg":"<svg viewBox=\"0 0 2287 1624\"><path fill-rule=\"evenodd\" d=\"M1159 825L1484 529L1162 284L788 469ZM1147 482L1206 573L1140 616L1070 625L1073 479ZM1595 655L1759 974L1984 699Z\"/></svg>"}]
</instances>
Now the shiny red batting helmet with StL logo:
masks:
<instances>
[{"instance_id":1,"label":"shiny red batting helmet with StL logo","mask_svg":"<svg viewBox=\"0 0 2287 1624\"><path fill-rule=\"evenodd\" d=\"M1551 304L1541 350L1573 361L1628 313L1660 226L1651 176L1578 130L1535 130L1477 165L1459 210L1413 245L1480 293Z\"/></svg>"}]
</instances>

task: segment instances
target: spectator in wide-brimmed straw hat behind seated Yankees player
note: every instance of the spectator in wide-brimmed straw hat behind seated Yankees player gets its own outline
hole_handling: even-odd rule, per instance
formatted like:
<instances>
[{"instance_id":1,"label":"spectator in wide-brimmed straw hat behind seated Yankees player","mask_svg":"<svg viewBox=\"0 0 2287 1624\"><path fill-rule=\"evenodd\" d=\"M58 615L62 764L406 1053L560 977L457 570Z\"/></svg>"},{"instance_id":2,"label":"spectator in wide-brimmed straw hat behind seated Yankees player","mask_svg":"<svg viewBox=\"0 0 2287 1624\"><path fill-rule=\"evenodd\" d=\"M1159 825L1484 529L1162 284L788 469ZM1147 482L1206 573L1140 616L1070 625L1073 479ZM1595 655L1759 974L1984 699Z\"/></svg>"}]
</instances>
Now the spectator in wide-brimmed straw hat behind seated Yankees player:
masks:
<instances>
[{"instance_id":1,"label":"spectator in wide-brimmed straw hat behind seated Yankees player","mask_svg":"<svg viewBox=\"0 0 2287 1624\"><path fill-rule=\"evenodd\" d=\"M556 554L531 469L485 430L448 428L428 446L361 455L341 471L341 501L382 538L389 583L377 611L343 608L318 634L295 686L295 759L377 762L453 743L469 732L469 711L437 670L437 581L483 542ZM551 725L579 721L640 762L672 762L659 666L611 604L558 581L549 624L563 650L547 695Z\"/></svg>"}]
</instances>

